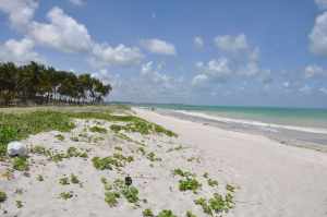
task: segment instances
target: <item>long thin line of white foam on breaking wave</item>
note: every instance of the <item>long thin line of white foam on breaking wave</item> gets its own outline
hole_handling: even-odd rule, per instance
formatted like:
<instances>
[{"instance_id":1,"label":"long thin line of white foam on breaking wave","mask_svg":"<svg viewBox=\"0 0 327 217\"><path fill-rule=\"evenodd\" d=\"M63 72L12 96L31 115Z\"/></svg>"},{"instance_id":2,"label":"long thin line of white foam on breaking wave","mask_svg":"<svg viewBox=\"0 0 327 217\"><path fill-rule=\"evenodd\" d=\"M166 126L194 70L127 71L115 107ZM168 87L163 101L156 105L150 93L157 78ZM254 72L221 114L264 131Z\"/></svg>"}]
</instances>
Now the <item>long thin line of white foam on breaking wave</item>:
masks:
<instances>
[{"instance_id":1,"label":"long thin line of white foam on breaking wave","mask_svg":"<svg viewBox=\"0 0 327 217\"><path fill-rule=\"evenodd\" d=\"M240 124L249 124L249 125L255 125L255 126L263 126L263 128L274 128L274 129L287 129L287 130L293 130L293 131L302 131L307 133L320 133L320 134L327 134L327 129L323 128L304 128L304 126L295 126L295 125L282 125L282 124L276 124L276 123L266 123L261 121L251 121L251 120L244 120L244 119L231 119L231 118L225 118L225 117L218 117L218 116L209 116L202 112L194 112L194 111L184 111L184 110L174 110L175 112L198 117L198 118L205 118L210 119L215 121L226 122L226 123L240 123Z\"/></svg>"}]
</instances>

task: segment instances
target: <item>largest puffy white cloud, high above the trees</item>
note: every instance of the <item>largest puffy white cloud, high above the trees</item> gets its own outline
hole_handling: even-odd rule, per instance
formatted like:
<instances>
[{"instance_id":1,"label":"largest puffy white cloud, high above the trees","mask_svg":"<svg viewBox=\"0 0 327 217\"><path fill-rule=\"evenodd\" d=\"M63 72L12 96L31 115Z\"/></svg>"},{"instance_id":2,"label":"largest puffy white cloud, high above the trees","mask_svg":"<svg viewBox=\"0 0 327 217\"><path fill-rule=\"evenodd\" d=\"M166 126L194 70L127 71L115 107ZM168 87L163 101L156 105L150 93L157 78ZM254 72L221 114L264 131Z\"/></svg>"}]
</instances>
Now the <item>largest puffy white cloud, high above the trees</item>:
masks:
<instances>
[{"instance_id":1,"label":"largest puffy white cloud, high above the trees","mask_svg":"<svg viewBox=\"0 0 327 217\"><path fill-rule=\"evenodd\" d=\"M39 44L64 52L89 51L93 41L87 28L55 7L47 14L50 23L33 22L29 35Z\"/></svg>"}]
</instances>

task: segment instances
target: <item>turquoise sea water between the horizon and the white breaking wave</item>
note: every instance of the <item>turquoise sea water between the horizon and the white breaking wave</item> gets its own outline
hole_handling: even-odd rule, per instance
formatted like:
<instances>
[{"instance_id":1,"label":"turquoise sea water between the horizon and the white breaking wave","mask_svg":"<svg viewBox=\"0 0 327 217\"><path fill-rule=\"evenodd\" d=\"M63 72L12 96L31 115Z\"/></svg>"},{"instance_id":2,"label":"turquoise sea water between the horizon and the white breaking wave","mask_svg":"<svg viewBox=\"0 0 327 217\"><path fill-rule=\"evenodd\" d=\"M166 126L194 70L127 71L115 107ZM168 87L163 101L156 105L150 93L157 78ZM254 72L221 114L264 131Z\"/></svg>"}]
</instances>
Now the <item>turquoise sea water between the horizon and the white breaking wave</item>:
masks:
<instances>
[{"instance_id":1,"label":"turquoise sea water between the horizon and the white breaking wave","mask_svg":"<svg viewBox=\"0 0 327 217\"><path fill-rule=\"evenodd\" d=\"M230 119L242 119L283 125L327 129L327 109L276 108L276 107L229 107L189 105L140 105L159 109L201 112Z\"/></svg>"}]
</instances>

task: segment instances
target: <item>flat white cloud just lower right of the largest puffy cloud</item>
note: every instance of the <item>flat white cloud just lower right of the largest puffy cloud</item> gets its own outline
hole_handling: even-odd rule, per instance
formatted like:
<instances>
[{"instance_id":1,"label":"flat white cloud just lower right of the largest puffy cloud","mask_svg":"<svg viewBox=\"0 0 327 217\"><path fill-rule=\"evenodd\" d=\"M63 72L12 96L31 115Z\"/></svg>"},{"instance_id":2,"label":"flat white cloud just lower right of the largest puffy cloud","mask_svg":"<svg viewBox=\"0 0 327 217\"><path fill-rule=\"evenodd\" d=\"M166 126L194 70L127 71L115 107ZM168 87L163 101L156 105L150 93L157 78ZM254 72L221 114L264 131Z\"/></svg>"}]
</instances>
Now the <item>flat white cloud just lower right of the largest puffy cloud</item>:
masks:
<instances>
[{"instance_id":1,"label":"flat white cloud just lower right of the largest puffy cloud","mask_svg":"<svg viewBox=\"0 0 327 217\"><path fill-rule=\"evenodd\" d=\"M112 64L131 65L138 64L143 58L142 52L136 47L119 45L113 48L109 45L96 44L93 48L92 62L97 67Z\"/></svg>"}]
</instances>

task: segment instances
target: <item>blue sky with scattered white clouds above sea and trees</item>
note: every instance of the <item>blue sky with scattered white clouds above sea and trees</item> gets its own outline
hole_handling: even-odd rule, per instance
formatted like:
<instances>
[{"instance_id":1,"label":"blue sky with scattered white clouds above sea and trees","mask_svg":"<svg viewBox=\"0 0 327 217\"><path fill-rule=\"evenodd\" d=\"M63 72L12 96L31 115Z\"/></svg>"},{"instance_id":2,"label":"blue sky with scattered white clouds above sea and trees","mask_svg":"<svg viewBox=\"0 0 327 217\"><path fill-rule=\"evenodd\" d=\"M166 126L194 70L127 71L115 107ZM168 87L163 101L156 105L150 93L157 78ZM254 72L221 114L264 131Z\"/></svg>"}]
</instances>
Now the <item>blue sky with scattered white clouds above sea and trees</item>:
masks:
<instances>
[{"instance_id":1,"label":"blue sky with scattered white clouds above sea and trees","mask_svg":"<svg viewBox=\"0 0 327 217\"><path fill-rule=\"evenodd\" d=\"M109 101L327 108L327 0L0 0L0 62L92 73Z\"/></svg>"}]
</instances>

